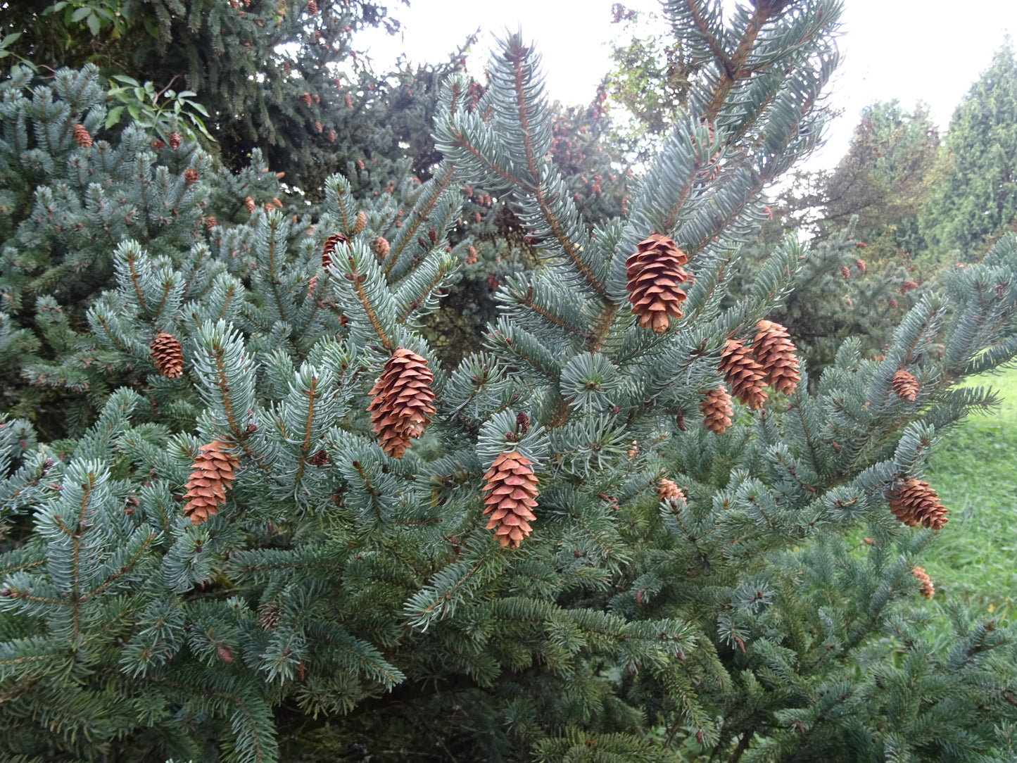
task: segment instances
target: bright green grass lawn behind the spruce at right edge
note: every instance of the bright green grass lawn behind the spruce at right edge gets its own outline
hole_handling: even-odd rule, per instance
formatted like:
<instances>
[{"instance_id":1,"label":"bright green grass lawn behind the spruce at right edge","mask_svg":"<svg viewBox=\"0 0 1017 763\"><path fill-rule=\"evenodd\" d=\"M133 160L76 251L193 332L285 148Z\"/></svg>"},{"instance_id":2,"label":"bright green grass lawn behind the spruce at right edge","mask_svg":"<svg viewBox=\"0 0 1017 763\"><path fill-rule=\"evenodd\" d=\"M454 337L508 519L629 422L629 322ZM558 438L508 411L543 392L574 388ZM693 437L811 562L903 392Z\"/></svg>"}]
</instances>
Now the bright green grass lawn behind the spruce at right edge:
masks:
<instances>
[{"instance_id":1,"label":"bright green grass lawn behind the spruce at right edge","mask_svg":"<svg viewBox=\"0 0 1017 763\"><path fill-rule=\"evenodd\" d=\"M1007 617L1017 602L1017 368L966 386L999 390L1003 404L934 453L926 479L950 514L921 564L949 597Z\"/></svg>"}]
</instances>

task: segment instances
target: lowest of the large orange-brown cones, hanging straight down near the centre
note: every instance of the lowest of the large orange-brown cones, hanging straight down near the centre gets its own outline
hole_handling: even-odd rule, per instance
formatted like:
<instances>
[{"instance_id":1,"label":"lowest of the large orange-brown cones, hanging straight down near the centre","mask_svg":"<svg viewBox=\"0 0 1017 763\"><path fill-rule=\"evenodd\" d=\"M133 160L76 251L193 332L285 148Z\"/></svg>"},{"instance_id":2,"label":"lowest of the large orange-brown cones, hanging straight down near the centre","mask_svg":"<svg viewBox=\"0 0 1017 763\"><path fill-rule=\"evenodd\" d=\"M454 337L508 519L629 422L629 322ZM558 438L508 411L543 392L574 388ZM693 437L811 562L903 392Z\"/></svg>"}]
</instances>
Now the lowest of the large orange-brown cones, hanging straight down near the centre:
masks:
<instances>
[{"instance_id":1,"label":"lowest of the large orange-brown cones, hanging straight down near the centre","mask_svg":"<svg viewBox=\"0 0 1017 763\"><path fill-rule=\"evenodd\" d=\"M533 462L516 451L499 453L484 479L484 515L490 515L486 529L494 530L502 548L519 548L536 519L530 511L537 506Z\"/></svg>"}]
</instances>

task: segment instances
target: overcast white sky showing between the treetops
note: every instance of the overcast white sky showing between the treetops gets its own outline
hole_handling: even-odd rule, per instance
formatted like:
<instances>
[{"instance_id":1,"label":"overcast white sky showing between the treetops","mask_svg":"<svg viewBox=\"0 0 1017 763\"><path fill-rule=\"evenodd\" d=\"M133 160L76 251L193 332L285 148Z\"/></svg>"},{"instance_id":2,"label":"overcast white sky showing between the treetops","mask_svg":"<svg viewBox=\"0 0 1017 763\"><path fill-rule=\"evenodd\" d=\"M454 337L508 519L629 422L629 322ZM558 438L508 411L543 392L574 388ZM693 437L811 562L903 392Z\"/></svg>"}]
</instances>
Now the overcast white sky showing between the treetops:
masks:
<instances>
[{"instance_id":1,"label":"overcast white sky showing between the treetops","mask_svg":"<svg viewBox=\"0 0 1017 763\"><path fill-rule=\"evenodd\" d=\"M486 58L491 33L522 26L543 56L550 98L589 103L610 68L612 0L412 0L410 8L390 2L403 21L403 40L365 33L357 40L383 71L400 51L413 61L440 61L478 26L471 62ZM659 10L656 0L629 0L631 8ZM827 145L810 162L813 169L836 164L851 136L858 112L874 101L896 98L910 107L922 100L945 130L961 97L989 67L1008 32L1017 37L1017 0L845 0L844 52L832 98L843 116Z\"/></svg>"}]
</instances>

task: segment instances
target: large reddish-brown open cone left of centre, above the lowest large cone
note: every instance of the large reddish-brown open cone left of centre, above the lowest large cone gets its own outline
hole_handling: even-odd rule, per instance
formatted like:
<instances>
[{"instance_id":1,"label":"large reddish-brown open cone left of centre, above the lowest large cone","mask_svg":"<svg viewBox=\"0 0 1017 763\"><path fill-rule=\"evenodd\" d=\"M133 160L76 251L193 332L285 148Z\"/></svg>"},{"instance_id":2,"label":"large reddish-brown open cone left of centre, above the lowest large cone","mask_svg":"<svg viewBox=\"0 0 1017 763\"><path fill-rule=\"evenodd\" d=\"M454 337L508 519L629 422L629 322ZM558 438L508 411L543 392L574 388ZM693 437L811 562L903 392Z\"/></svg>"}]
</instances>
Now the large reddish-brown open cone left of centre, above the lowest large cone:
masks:
<instances>
[{"instance_id":1,"label":"large reddish-brown open cone left of centre, above the lowest large cone","mask_svg":"<svg viewBox=\"0 0 1017 763\"><path fill-rule=\"evenodd\" d=\"M381 450L393 458L403 458L410 439L419 437L435 412L431 401L434 374L427 361L404 347L396 350L384 364L367 406Z\"/></svg>"}]
</instances>

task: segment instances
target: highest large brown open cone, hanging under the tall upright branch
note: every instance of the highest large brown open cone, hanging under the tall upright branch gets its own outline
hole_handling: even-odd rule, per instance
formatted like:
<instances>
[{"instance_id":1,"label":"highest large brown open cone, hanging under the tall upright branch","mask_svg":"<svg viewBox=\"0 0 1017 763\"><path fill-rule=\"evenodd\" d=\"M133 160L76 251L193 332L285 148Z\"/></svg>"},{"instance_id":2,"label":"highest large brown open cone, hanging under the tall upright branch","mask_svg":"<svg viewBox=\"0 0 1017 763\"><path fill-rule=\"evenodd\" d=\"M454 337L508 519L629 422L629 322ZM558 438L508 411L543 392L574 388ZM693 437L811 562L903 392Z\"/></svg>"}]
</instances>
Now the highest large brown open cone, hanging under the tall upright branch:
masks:
<instances>
[{"instance_id":1,"label":"highest large brown open cone, hanging under the tall upright branch","mask_svg":"<svg viewBox=\"0 0 1017 763\"><path fill-rule=\"evenodd\" d=\"M670 318L681 317L681 302L685 293L678 284L689 280L681 266L689 257L666 236L652 233L641 241L635 254L625 260L633 314L639 315L641 329L651 328L663 334Z\"/></svg>"}]
</instances>

